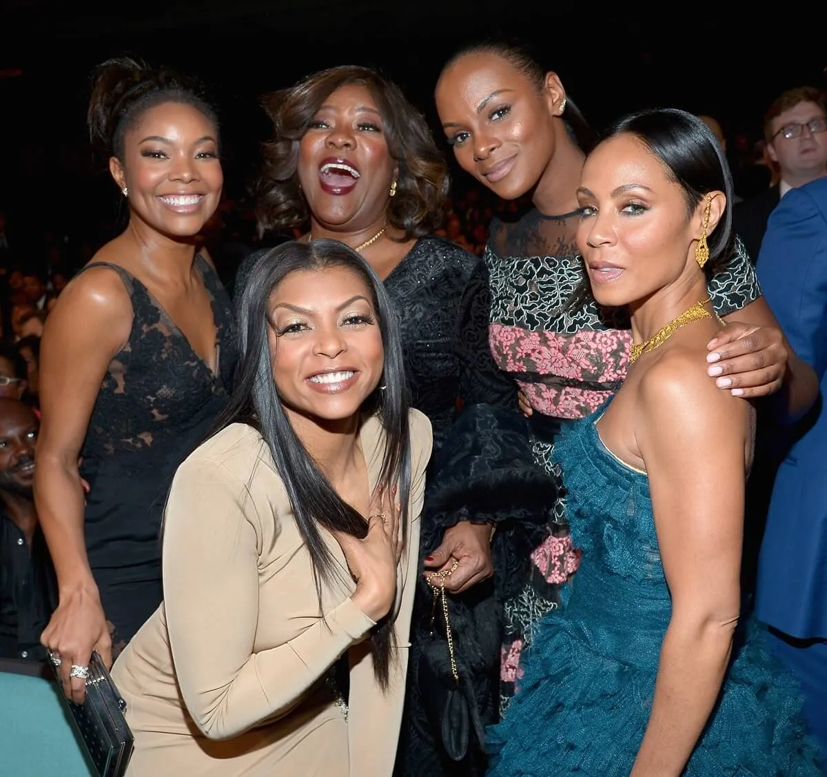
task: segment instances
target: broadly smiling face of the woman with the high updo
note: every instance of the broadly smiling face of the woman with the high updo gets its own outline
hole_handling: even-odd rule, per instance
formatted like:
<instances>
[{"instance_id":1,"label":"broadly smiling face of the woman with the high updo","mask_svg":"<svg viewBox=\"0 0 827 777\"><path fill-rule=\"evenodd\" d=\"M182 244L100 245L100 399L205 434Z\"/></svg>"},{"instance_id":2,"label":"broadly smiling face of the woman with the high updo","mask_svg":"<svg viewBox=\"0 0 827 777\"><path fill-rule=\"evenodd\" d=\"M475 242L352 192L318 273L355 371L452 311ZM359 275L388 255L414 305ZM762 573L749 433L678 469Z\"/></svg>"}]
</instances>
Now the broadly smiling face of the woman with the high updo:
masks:
<instances>
[{"instance_id":1,"label":"broadly smiling face of the woman with the high updo","mask_svg":"<svg viewBox=\"0 0 827 777\"><path fill-rule=\"evenodd\" d=\"M161 103L124 133L109 169L128 189L132 218L167 237L192 237L218 208L223 174L218 130L198 108Z\"/></svg>"}]
</instances>

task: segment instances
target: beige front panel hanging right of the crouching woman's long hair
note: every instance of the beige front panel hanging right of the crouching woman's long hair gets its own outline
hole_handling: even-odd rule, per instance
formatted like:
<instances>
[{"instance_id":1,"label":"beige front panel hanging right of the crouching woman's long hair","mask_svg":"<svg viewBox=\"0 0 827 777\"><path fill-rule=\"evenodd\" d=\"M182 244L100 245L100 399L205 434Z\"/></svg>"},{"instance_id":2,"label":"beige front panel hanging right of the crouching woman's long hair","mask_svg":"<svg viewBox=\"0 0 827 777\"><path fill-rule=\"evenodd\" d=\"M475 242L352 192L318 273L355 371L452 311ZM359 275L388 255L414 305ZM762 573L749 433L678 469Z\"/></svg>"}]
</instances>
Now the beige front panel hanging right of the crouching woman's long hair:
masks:
<instances>
[{"instance_id":1,"label":"beige front panel hanging right of the crouching woman's long hair","mask_svg":"<svg viewBox=\"0 0 827 777\"><path fill-rule=\"evenodd\" d=\"M351 775L387 777L394 770L399 730L402 725L405 677L408 673L410 622L419 573L419 530L425 496L425 469L431 458L431 423L418 410L411 411L411 493L407 563L402 571L403 590L395 621L395 660L390 665L390 684L383 693L376 684L370 645L351 648L351 694L348 741Z\"/></svg>"}]
</instances>

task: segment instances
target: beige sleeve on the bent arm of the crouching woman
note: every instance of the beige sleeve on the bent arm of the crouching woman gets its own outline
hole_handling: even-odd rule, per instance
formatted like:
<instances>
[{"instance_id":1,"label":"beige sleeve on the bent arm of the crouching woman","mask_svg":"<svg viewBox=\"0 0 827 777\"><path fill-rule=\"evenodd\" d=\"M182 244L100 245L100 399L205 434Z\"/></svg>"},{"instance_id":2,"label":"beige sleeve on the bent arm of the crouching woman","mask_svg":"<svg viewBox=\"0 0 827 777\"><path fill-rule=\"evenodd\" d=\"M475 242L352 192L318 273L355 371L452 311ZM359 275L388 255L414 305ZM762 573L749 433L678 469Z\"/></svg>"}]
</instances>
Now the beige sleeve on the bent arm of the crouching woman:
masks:
<instances>
[{"instance_id":1,"label":"beige sleeve on the bent arm of the crouching woman","mask_svg":"<svg viewBox=\"0 0 827 777\"><path fill-rule=\"evenodd\" d=\"M327 622L319 618L295 639L253 654L258 522L253 497L221 463L189 459L179 468L165 518L167 628L184 703L211 739L289 712L374 625L346 599Z\"/></svg>"}]
</instances>

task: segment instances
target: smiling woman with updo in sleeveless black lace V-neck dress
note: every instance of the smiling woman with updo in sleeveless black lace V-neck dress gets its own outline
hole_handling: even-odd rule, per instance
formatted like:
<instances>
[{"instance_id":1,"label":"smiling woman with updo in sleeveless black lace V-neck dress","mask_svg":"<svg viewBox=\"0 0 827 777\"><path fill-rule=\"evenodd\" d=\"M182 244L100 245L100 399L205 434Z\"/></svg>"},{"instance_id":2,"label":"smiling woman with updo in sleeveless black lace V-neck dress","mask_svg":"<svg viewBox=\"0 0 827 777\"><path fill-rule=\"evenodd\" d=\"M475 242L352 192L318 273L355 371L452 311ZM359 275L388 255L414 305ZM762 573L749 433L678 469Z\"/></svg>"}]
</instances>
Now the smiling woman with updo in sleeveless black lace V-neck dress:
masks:
<instances>
[{"instance_id":1,"label":"smiling woman with updo in sleeveless black lace V-neck dress","mask_svg":"<svg viewBox=\"0 0 827 777\"><path fill-rule=\"evenodd\" d=\"M225 405L237 361L232 303L195 251L223 181L201 89L109 60L93 74L88 127L129 222L49 315L35 480L60 588L42 641L75 701L92 650L112 664L160 604L170 481Z\"/></svg>"}]
</instances>

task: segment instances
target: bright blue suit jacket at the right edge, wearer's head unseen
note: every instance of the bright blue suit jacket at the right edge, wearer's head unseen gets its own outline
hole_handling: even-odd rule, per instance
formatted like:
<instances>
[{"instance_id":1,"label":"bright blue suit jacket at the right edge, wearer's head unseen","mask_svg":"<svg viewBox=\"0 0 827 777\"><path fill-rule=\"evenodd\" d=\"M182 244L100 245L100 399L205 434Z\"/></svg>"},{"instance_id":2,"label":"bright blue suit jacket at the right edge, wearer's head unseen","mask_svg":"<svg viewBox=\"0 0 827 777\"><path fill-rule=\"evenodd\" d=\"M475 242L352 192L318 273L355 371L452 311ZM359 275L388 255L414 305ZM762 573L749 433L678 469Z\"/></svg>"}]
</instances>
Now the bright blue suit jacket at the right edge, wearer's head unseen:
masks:
<instances>
[{"instance_id":1,"label":"bright blue suit jacket at the right edge, wearer's head unseen","mask_svg":"<svg viewBox=\"0 0 827 777\"><path fill-rule=\"evenodd\" d=\"M821 397L796 427L772 489L756 614L800 638L827 637L827 178L791 189L767 223L758 279Z\"/></svg>"}]
</instances>

